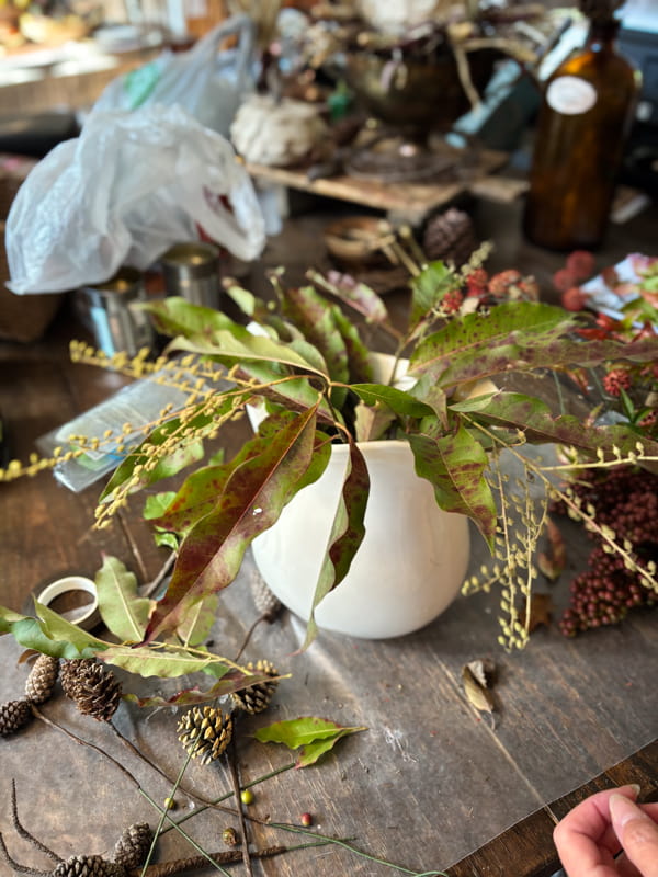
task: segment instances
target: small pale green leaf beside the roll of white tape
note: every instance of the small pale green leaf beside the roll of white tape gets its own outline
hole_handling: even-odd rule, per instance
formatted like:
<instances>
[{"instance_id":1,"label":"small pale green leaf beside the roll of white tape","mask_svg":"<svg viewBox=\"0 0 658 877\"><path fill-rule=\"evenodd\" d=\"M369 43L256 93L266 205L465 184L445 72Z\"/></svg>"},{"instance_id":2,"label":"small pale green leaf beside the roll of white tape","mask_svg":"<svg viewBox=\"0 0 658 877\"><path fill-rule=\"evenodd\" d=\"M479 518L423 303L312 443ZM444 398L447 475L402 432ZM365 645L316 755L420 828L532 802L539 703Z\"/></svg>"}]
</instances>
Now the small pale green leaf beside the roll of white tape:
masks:
<instances>
[{"instance_id":1,"label":"small pale green leaf beside the roll of white tape","mask_svg":"<svg viewBox=\"0 0 658 877\"><path fill-rule=\"evenodd\" d=\"M104 557L94 581L105 626L123 642L140 642L154 602L138 595L135 576L117 558Z\"/></svg>"}]
</instances>

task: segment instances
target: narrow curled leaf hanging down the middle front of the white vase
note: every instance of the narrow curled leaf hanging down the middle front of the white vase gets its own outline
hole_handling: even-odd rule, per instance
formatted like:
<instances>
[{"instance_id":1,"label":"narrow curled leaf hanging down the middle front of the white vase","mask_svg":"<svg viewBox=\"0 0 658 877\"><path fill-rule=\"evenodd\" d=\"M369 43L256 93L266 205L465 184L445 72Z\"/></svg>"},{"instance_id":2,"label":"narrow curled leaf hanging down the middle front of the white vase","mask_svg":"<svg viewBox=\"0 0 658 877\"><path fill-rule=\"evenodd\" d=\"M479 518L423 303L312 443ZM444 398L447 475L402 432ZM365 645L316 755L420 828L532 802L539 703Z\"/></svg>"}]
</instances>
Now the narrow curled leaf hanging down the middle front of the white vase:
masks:
<instances>
[{"instance_id":1,"label":"narrow curled leaf hanging down the middle front of the white vase","mask_svg":"<svg viewBox=\"0 0 658 877\"><path fill-rule=\"evenodd\" d=\"M350 438L350 457L345 479L331 525L329 545L316 584L303 649L308 648L317 635L315 611L318 604L345 578L354 555L363 542L365 536L363 520L368 491L367 466L359 446Z\"/></svg>"}]
</instances>

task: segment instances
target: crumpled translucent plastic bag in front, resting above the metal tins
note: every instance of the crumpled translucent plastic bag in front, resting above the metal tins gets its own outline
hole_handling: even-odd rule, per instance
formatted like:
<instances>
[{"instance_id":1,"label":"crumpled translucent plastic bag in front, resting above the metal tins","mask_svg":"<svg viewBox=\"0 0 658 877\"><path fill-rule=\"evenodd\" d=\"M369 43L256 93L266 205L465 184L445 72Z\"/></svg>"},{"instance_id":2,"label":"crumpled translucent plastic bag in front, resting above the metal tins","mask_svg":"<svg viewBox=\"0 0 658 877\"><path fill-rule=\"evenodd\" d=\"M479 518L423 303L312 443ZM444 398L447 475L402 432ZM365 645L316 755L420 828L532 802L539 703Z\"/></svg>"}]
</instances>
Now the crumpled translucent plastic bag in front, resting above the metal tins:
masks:
<instances>
[{"instance_id":1,"label":"crumpled translucent plastic bag in front, resting above the metal tins","mask_svg":"<svg viewBox=\"0 0 658 877\"><path fill-rule=\"evenodd\" d=\"M100 283L144 271L197 226L239 259L260 254L264 221L231 145L181 106L93 113L80 137L27 175L7 220L18 294Z\"/></svg>"}]
</instances>

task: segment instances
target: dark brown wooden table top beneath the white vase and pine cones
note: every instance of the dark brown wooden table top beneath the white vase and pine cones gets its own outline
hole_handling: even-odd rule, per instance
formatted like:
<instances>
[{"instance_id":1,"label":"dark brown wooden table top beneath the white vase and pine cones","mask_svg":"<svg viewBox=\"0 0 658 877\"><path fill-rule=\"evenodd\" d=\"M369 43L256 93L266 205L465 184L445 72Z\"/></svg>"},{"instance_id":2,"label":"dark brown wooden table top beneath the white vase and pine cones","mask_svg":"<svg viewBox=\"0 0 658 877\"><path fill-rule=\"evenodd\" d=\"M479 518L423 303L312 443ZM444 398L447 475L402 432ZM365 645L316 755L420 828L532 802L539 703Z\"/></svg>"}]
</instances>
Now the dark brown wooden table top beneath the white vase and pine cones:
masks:
<instances>
[{"instance_id":1,"label":"dark brown wooden table top beneath the white vase and pine cones","mask_svg":"<svg viewBox=\"0 0 658 877\"><path fill-rule=\"evenodd\" d=\"M306 220L302 226L311 234ZM274 241L266 258L276 259L282 247L282 240ZM124 383L116 375L70 364L71 334L81 332L65 310L43 341L0 343L0 411L14 456L25 459L39 435ZM229 444L239 437L234 434ZM0 603L25 611L30 594L47 582L71 572L93 577L102 554L120 558L140 584L156 574L167 553L156 547L140 519L143 499L132 501L111 529L99 533L91 529L97 496L93 487L73 494L48 474L0 485ZM566 605L569 579L587 549L577 527L567 538L568 570L552 589L555 617ZM484 546L476 545L474 570L485 559ZM248 555L222 599L213 631L219 653L235 654L257 617L249 588L252 572ZM295 653L304 633L297 618L284 612L275 624L259 625L242 660L265 657L292 677L281 683L271 710L240 722L237 758L243 783L291 762L283 748L253 740L258 727L306 715L366 726L367 731L340 741L318 765L288 770L257 785L248 812L265 822L298 824L308 811L311 830L352 839L370 856L406 868L402 873L543 877L556 866L551 843L555 819L587 791L639 782L643 796L655 794L658 615L631 613L620 627L574 640L565 639L555 624L541 627L525 651L514 654L497 645L496 615L494 594L460 597L411 636L365 641L321 634L304 654ZM0 702L22 695L27 669L18 663L21 651L10 637L0 638ZM474 710L462 688L463 664L478 658L497 665L495 721ZM122 679L126 690L143 694L172 693L182 684ZM110 728L77 714L61 694L42 711L124 764L156 802L168 797L168 782L127 751ZM177 775L184 752L175 739L172 709L140 710L124 703L114 722L170 777ZM124 773L52 727L34 721L0 745L0 830L23 864L52 867L11 830L11 777L25 827L64 857L111 850L131 822L157 824L156 811ZM230 782L223 763L193 763L183 786L216 798L230 789ZM175 818L196 809L182 793L177 800ZM227 825L235 827L236 820L217 811L185 822L190 834L212 851L224 848L220 835ZM254 847L300 840L256 822L249 832ZM193 852L169 831L158 857ZM246 870L239 865L236 873ZM263 859L254 864L254 873L377 877L396 872L330 845Z\"/></svg>"}]
</instances>

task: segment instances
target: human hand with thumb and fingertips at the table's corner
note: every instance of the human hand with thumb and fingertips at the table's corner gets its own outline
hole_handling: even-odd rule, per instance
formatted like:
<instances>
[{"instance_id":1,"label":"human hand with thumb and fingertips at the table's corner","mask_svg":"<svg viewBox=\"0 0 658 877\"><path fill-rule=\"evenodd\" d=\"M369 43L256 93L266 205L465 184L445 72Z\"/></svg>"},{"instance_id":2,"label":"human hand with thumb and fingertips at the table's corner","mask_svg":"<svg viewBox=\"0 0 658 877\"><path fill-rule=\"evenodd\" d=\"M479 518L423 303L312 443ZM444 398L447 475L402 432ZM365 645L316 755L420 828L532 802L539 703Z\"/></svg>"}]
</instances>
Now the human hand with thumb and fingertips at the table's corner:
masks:
<instances>
[{"instance_id":1,"label":"human hand with thumb and fingertips at the table's corner","mask_svg":"<svg viewBox=\"0 0 658 877\"><path fill-rule=\"evenodd\" d=\"M599 791L556 825L568 877L658 877L658 804L636 805L638 790Z\"/></svg>"}]
</instances>

